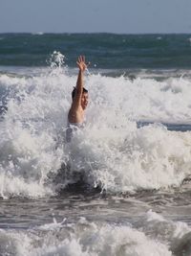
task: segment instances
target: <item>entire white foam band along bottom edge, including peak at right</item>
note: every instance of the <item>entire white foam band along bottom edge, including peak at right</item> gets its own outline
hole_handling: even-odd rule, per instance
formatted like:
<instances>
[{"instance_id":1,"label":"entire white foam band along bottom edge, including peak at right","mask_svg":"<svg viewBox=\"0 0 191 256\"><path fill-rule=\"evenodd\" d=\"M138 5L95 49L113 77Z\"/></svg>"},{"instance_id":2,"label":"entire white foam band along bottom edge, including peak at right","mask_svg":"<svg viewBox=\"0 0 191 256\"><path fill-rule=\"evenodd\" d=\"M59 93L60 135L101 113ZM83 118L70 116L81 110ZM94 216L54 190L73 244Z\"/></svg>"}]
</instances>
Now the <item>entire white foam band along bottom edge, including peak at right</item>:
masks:
<instances>
[{"instance_id":1,"label":"entire white foam band along bottom edge, including peak at right","mask_svg":"<svg viewBox=\"0 0 191 256\"><path fill-rule=\"evenodd\" d=\"M31 230L0 230L1 255L190 255L190 228L149 211L136 223L85 218L47 223Z\"/></svg>"}]
</instances>

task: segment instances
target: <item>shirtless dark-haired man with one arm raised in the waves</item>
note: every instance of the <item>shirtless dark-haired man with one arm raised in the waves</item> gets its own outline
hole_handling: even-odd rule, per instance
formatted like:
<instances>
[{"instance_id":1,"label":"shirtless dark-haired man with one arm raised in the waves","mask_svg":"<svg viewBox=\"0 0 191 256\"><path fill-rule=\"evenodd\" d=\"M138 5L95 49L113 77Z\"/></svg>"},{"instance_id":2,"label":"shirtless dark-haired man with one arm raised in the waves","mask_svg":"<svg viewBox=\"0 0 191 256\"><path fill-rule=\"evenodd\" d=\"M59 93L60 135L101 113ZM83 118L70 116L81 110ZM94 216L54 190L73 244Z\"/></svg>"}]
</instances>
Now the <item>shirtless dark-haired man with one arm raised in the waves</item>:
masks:
<instances>
[{"instance_id":1,"label":"shirtless dark-haired man with one arm raised in the waves","mask_svg":"<svg viewBox=\"0 0 191 256\"><path fill-rule=\"evenodd\" d=\"M83 126L85 115L84 110L88 105L88 90L83 87L84 71L87 68L85 57L80 56L77 61L79 68L76 87L72 92L73 103L68 113L68 128L66 130L67 142L71 141L73 128L80 128Z\"/></svg>"}]
</instances>

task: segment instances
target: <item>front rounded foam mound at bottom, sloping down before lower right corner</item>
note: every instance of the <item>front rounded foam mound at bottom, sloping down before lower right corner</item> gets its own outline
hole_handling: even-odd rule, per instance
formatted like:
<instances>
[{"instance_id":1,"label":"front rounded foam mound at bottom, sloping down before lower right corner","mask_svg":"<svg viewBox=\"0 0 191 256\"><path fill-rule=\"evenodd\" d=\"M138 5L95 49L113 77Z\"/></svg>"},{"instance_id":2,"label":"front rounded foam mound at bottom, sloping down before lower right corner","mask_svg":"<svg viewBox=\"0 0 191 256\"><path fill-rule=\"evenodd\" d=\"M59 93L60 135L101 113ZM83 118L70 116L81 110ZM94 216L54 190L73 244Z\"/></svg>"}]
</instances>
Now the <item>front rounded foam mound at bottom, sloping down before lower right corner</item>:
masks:
<instances>
[{"instance_id":1,"label":"front rounded foam mound at bottom, sloping down before lower right corner","mask_svg":"<svg viewBox=\"0 0 191 256\"><path fill-rule=\"evenodd\" d=\"M0 253L20 256L172 255L168 244L146 236L130 223L97 223L81 218L75 223L62 223L57 229L51 224L50 230L47 227L46 224L43 231L40 229L41 233L38 228L28 233L0 230Z\"/></svg>"}]
</instances>

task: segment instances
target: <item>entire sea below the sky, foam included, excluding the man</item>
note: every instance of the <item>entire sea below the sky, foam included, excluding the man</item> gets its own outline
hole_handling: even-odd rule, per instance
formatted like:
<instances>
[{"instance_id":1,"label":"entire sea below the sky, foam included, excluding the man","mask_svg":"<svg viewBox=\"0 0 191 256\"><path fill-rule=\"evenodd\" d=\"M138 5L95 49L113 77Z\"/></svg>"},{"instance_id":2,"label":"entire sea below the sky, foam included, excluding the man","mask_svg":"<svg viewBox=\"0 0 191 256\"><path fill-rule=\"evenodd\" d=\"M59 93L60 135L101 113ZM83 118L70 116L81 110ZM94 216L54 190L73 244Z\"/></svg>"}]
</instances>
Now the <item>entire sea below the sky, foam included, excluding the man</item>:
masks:
<instances>
[{"instance_id":1,"label":"entire sea below the sky, foam included, excluding the man","mask_svg":"<svg viewBox=\"0 0 191 256\"><path fill-rule=\"evenodd\" d=\"M191 255L191 35L0 34L0 255Z\"/></svg>"}]
</instances>

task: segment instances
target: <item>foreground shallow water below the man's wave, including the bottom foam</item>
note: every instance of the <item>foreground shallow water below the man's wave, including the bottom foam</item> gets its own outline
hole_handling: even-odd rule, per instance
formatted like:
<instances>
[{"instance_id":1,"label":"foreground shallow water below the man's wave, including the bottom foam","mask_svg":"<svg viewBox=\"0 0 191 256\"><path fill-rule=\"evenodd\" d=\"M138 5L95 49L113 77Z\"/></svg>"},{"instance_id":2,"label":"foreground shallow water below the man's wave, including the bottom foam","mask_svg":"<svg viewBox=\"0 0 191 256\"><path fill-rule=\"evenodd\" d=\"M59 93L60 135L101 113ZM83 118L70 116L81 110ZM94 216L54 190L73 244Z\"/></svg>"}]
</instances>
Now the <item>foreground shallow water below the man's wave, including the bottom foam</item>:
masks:
<instances>
[{"instance_id":1,"label":"foreground shallow water below the man's wave, including the bottom foam","mask_svg":"<svg viewBox=\"0 0 191 256\"><path fill-rule=\"evenodd\" d=\"M1 254L189 255L190 192L175 194L2 199Z\"/></svg>"}]
</instances>

